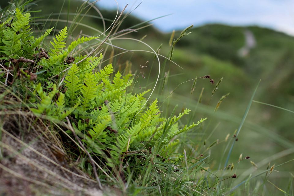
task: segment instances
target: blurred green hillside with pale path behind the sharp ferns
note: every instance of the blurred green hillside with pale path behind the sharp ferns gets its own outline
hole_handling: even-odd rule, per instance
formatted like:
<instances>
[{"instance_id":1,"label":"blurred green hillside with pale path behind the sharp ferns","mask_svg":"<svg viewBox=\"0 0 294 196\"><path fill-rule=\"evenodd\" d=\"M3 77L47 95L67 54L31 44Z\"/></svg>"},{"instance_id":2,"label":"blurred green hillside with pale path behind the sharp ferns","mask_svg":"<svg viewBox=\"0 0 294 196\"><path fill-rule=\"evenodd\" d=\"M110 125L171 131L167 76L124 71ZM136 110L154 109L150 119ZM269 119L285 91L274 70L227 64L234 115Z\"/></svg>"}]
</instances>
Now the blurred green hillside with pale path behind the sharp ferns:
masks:
<instances>
[{"instance_id":1,"label":"blurred green hillside with pale path behind the sharp ferns","mask_svg":"<svg viewBox=\"0 0 294 196\"><path fill-rule=\"evenodd\" d=\"M5 2L1 1L1 4L3 7ZM55 30L58 32L68 25L71 27L69 34L74 38L82 34L100 35L94 29L103 32L103 22L93 8L85 9L84 13L87 12L87 15L78 16L76 21L81 19L80 24L77 25L77 28L73 28L76 24L72 24L70 21L77 17L75 13L81 4L82 1L37 2L33 10L41 10L41 12L32 13L36 20L36 27L40 29L41 33L43 29L56 26ZM71 14L67 14L68 10ZM116 10L100 9L100 12L105 19L106 28L109 27L115 19ZM125 16L118 31L138 29L149 24L142 23L144 21L132 16L132 14L125 14ZM123 37L142 40L154 50L162 44L159 54L169 57L171 48L169 40L172 32L162 33L150 25L135 32L126 32L130 33ZM175 31L175 39L180 32ZM224 77L213 97L214 86L204 79L198 79L192 95L190 91L193 81L184 83L171 94L160 108L163 115L168 115L171 109L178 104L178 111L187 107L195 112L193 119L187 118L186 121L192 122L203 117L208 118L205 126L201 126L198 130L192 130L182 137L186 139L186 150L192 148L191 146L196 149L198 145L201 146L197 149L198 152L195 153L195 156L199 156L203 152L212 154L208 162L212 170L217 170L219 167L223 168L227 156L224 151L228 142L224 142L224 140L227 134L230 134L229 140L236 139L232 136L241 122L247 104L260 79L261 83L254 100L294 110L294 38L258 26L238 27L209 24L192 28L188 32L191 33L176 44L172 58L172 61L183 69L165 58L160 58L162 66L153 98L157 97L160 103L163 103L179 84L196 77L210 75L216 83ZM101 39L103 40L103 37ZM151 51L150 48L137 41L126 39L111 40L110 44L125 50L104 44L104 49L108 48L105 50L107 55L104 56L112 58L104 58L103 66L112 62L115 70L126 72L132 65L133 74L144 72L145 77L144 79L141 74L139 75L134 91L152 89L158 74L158 63L154 59L154 54L126 51ZM115 56L122 52L124 53ZM147 67L141 69L140 65ZM168 72L168 77L164 79ZM201 103L198 103L202 88L204 90ZM214 112L220 97L229 92L230 95ZM190 116L193 116L192 113ZM240 163L238 166L239 171L251 169L244 173L244 175L248 175L250 172L264 171L269 162L271 162L270 165L277 165L292 159L294 153L293 117L294 114L291 112L253 102L233 149L230 162L238 160L241 153L243 153L243 157L250 156L258 168L254 168L249 162ZM205 151L217 139L218 144ZM204 140L206 147L203 147ZM290 177L289 172L294 173L292 163L277 170L280 172L271 174L277 185L283 182L281 179ZM241 179L242 177L239 181Z\"/></svg>"}]
</instances>

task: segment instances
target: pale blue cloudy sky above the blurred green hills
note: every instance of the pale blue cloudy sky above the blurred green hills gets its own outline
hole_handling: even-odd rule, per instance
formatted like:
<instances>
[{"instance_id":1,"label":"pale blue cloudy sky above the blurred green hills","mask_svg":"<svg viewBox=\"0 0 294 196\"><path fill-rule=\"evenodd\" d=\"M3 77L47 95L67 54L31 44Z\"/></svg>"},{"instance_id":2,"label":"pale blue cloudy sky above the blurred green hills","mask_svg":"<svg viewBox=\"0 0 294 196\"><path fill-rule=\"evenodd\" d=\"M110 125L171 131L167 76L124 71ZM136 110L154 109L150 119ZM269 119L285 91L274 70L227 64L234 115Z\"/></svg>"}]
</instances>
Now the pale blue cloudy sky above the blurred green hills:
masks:
<instances>
[{"instance_id":1,"label":"pale blue cloudy sky above the blurred green hills","mask_svg":"<svg viewBox=\"0 0 294 196\"><path fill-rule=\"evenodd\" d=\"M152 21L163 32L187 26L222 23L228 25L259 25L294 36L294 0L117 0L121 11L143 20L171 14ZM100 0L98 6L116 9L115 0Z\"/></svg>"}]
</instances>

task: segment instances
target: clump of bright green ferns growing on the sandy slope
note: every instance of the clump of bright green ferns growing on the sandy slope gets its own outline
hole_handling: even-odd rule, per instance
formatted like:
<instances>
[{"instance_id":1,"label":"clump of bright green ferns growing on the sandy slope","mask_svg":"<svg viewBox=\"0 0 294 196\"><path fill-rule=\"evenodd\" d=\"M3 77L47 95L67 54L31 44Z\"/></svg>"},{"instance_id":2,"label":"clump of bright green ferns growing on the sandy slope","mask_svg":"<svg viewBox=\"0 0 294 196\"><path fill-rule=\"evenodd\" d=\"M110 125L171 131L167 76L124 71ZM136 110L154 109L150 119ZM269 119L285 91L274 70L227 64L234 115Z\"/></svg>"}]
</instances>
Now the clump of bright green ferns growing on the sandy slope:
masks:
<instances>
[{"instance_id":1,"label":"clump of bright green ferns growing on the sandy slope","mask_svg":"<svg viewBox=\"0 0 294 196\"><path fill-rule=\"evenodd\" d=\"M79 55L77 46L97 37L80 37L66 46L65 26L49 47L43 47L53 28L35 37L30 21L30 13L16 8L0 25L1 64L5 70L0 81L23 97L21 108L61 125L74 135L81 150L86 151L99 183L100 179L111 180L107 179L110 174L122 182L130 180L131 175L137 178L141 167L158 173L151 166L160 162L160 167L169 171L171 167L177 168L174 161L164 158L178 142L171 140L206 118L179 127L177 122L189 109L164 118L160 116L157 99L144 108L144 95L149 90L139 94L129 91L134 80L132 74L122 76L119 71L114 74L111 64L97 69L103 58L101 53L97 57ZM138 158L142 156L145 158ZM99 175L97 160L103 165L99 166ZM150 176L145 176L146 179L158 180ZM164 181L164 175L161 180Z\"/></svg>"}]
</instances>

